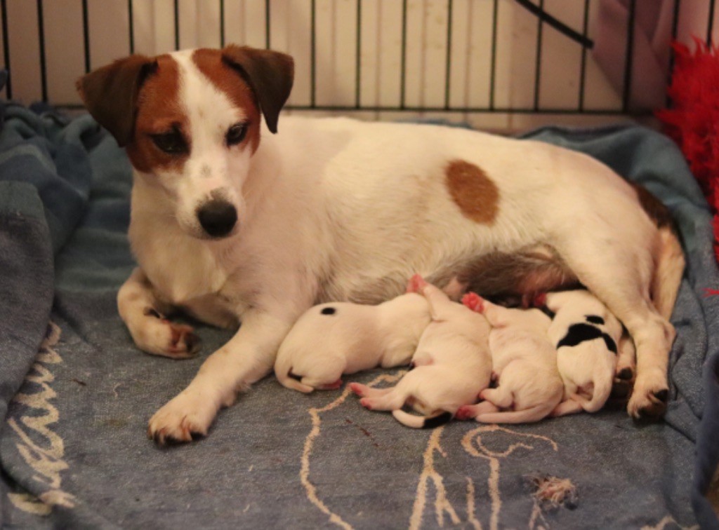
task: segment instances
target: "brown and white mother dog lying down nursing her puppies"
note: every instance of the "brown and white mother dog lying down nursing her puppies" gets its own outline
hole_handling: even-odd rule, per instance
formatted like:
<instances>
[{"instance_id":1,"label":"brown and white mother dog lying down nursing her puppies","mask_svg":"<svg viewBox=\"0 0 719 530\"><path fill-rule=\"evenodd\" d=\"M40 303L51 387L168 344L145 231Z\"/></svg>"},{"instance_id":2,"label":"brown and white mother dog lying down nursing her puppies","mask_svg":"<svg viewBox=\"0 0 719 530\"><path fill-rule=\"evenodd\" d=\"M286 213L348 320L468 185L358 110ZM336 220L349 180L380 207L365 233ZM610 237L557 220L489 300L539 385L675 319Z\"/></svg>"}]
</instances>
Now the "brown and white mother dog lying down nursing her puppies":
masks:
<instances>
[{"instance_id":1,"label":"brown and white mother dog lying down nursing her puppies","mask_svg":"<svg viewBox=\"0 0 719 530\"><path fill-rule=\"evenodd\" d=\"M150 419L157 443L206 434L312 304L390 299L415 271L444 287L481 270L468 280L487 297L578 280L636 343L629 414L664 412L683 257L630 185L583 154L463 129L285 117L278 132L292 82L288 55L234 45L78 80L134 167L139 266L118 307L137 346L191 353L191 329L162 316L178 308L242 321Z\"/></svg>"}]
</instances>

